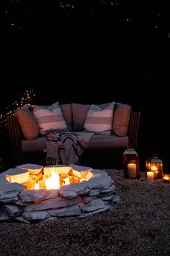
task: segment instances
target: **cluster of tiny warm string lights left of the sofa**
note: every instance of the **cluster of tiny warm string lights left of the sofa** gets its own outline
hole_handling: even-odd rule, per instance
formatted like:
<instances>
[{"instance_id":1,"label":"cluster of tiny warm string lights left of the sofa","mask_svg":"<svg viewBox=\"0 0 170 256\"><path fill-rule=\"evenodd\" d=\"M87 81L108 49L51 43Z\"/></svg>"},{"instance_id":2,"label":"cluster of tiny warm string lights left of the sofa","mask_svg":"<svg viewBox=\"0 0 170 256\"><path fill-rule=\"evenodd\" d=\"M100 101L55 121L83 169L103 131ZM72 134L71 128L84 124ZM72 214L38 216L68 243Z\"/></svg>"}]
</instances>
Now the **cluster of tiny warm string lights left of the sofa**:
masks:
<instances>
[{"instance_id":1,"label":"cluster of tiny warm string lights left of the sofa","mask_svg":"<svg viewBox=\"0 0 170 256\"><path fill-rule=\"evenodd\" d=\"M19 99L15 100L10 106L6 107L6 111L0 111L0 127L6 125L8 116L14 114L17 109L23 108L24 105L30 105L33 98L35 98L35 90L26 90Z\"/></svg>"}]
</instances>

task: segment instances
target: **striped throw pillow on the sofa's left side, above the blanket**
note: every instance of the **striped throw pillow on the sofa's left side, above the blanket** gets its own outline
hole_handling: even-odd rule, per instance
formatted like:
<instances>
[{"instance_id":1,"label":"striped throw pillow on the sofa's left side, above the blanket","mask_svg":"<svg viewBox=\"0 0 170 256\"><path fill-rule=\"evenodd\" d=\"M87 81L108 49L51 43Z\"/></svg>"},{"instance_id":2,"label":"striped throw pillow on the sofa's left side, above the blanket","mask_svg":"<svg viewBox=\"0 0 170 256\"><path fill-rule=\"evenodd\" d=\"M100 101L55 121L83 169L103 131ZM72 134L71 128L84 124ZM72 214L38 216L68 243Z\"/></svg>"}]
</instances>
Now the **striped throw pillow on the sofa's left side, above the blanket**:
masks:
<instances>
[{"instance_id":1,"label":"striped throw pillow on the sofa's left side, above the blanket","mask_svg":"<svg viewBox=\"0 0 170 256\"><path fill-rule=\"evenodd\" d=\"M67 132L68 127L59 103L56 102L48 108L43 106L34 106L33 114L40 128L40 133L45 135L46 132L61 130Z\"/></svg>"}]
</instances>

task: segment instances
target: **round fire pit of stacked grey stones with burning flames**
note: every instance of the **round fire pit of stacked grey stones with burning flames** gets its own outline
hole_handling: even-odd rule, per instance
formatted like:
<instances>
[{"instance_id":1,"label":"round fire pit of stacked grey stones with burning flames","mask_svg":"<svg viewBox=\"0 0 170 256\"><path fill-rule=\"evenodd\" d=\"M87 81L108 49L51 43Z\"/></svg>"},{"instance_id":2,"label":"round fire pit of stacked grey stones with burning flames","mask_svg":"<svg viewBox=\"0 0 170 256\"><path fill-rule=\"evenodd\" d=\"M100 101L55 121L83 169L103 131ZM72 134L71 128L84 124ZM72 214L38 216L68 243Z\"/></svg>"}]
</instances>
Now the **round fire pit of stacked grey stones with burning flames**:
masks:
<instances>
[{"instance_id":1,"label":"round fire pit of stacked grey stones with burning flames","mask_svg":"<svg viewBox=\"0 0 170 256\"><path fill-rule=\"evenodd\" d=\"M0 174L0 221L85 218L119 199L107 172L89 167L25 163Z\"/></svg>"}]
</instances>

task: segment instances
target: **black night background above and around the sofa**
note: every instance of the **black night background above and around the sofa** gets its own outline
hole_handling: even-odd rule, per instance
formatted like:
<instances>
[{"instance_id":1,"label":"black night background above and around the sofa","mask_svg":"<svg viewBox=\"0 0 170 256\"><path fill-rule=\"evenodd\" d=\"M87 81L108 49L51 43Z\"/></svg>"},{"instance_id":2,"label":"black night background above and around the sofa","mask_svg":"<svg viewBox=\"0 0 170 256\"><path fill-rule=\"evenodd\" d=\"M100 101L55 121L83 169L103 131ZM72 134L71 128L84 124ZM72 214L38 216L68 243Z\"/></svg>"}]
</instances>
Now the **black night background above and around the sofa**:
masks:
<instances>
[{"instance_id":1,"label":"black night background above and around the sofa","mask_svg":"<svg viewBox=\"0 0 170 256\"><path fill-rule=\"evenodd\" d=\"M0 19L0 111L27 88L42 105L128 103L142 113L143 162L158 153L169 170L166 1L6 0Z\"/></svg>"}]
</instances>

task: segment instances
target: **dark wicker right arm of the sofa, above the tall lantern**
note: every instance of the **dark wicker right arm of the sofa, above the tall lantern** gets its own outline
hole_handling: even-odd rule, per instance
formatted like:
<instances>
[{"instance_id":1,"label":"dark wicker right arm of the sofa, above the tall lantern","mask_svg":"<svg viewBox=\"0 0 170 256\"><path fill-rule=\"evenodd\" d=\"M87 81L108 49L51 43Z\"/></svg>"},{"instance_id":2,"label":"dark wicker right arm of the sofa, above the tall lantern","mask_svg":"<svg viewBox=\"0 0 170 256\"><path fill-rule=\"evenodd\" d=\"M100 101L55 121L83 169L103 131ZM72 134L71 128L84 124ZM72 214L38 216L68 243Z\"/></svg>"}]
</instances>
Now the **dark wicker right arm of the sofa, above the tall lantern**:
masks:
<instances>
[{"instance_id":1,"label":"dark wicker right arm of the sofa, above the tall lantern","mask_svg":"<svg viewBox=\"0 0 170 256\"><path fill-rule=\"evenodd\" d=\"M130 121L128 127L129 145L134 145L138 148L138 132L140 125L140 114L141 112L132 111L130 114Z\"/></svg>"}]
</instances>

